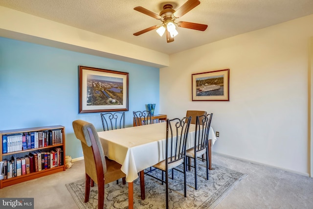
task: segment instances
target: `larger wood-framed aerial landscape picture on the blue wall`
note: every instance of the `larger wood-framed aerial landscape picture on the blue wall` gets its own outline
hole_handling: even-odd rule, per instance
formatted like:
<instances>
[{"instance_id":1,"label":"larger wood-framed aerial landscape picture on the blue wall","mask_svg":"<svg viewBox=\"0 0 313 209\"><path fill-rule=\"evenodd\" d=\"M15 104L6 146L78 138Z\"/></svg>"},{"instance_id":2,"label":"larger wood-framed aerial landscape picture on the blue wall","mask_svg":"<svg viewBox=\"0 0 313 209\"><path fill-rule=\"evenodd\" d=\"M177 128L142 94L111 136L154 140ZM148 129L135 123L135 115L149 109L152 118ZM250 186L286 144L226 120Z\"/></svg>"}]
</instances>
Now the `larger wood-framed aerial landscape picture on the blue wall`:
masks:
<instances>
[{"instance_id":1,"label":"larger wood-framed aerial landscape picture on the blue wall","mask_svg":"<svg viewBox=\"0 0 313 209\"><path fill-rule=\"evenodd\" d=\"M129 73L79 66L79 113L128 111Z\"/></svg>"}]
</instances>

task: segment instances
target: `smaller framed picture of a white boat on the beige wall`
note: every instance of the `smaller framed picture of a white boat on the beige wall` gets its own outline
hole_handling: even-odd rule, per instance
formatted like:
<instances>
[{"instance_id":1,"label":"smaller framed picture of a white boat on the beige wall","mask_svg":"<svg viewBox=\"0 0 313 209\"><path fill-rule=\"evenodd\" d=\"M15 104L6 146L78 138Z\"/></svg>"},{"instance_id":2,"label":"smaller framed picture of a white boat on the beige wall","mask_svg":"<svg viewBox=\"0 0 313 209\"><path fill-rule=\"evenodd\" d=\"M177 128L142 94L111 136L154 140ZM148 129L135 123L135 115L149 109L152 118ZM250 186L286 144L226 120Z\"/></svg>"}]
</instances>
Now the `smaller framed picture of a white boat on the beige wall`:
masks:
<instances>
[{"instance_id":1,"label":"smaller framed picture of a white boat on the beige wall","mask_svg":"<svg viewBox=\"0 0 313 209\"><path fill-rule=\"evenodd\" d=\"M191 76L192 101L229 101L229 69Z\"/></svg>"}]
</instances>

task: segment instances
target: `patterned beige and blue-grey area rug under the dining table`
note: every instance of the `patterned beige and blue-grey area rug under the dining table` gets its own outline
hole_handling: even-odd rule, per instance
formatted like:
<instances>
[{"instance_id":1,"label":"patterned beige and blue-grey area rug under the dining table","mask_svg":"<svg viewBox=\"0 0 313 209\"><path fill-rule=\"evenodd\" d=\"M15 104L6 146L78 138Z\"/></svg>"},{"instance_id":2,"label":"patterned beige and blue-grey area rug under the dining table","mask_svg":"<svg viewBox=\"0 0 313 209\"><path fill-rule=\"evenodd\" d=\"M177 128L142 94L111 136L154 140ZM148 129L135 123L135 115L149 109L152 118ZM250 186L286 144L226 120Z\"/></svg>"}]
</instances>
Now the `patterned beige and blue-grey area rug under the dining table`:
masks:
<instances>
[{"instance_id":1,"label":"patterned beige and blue-grey area rug under the dining table","mask_svg":"<svg viewBox=\"0 0 313 209\"><path fill-rule=\"evenodd\" d=\"M170 209L213 209L247 174L240 173L220 165L212 164L209 170L209 180L206 180L205 162L199 161L198 189L195 189L194 168L187 171L187 197L184 197L183 173L175 171L174 180L169 179L169 208ZM159 170L152 171L153 175L160 176ZM171 175L169 175L171 177ZM85 179L67 184L80 209L98 208L98 187L90 187L89 202L84 203ZM164 209L165 184L145 175L146 199L140 198L139 178L134 181L134 209ZM105 185L105 208L127 209L128 186L115 182Z\"/></svg>"}]
</instances>

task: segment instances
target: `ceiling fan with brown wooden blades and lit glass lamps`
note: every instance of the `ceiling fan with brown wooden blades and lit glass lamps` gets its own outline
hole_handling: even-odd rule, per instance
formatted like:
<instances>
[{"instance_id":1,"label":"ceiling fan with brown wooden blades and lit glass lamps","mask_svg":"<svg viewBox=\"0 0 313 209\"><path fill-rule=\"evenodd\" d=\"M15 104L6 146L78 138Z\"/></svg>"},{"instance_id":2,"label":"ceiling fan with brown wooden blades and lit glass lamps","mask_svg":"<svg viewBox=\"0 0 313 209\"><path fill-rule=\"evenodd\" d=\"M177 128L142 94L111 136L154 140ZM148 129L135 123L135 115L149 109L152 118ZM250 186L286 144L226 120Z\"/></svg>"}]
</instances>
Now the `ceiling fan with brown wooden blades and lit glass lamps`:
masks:
<instances>
[{"instance_id":1,"label":"ceiling fan with brown wooden blades and lit glass lamps","mask_svg":"<svg viewBox=\"0 0 313 209\"><path fill-rule=\"evenodd\" d=\"M199 4L199 0L187 0L181 7L179 7L178 10L174 10L171 4L165 4L163 6L163 10L160 12L159 15L141 6L137 6L134 8L134 10L153 17L156 20L160 20L162 23L160 25L154 25L143 29L139 32L134 33L134 35L139 36L143 33L156 29L156 32L160 36L162 36L166 32L166 41L167 43L170 43L174 41L174 37L178 34L175 25L179 27L204 31L207 28L206 24L190 23L183 21L180 21L178 23L175 22L177 19L181 18L184 14L186 14Z\"/></svg>"}]
</instances>

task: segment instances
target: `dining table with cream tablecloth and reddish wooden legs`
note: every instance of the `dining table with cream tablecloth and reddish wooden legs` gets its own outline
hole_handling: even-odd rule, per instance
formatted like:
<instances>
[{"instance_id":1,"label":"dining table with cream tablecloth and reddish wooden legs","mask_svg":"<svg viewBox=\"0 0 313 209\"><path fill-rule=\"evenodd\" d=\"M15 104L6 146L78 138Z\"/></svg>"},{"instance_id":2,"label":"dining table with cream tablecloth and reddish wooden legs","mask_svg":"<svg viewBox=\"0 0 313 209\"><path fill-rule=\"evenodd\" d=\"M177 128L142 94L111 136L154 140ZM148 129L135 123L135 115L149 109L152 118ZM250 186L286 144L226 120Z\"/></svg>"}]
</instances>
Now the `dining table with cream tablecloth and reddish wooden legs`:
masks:
<instances>
[{"instance_id":1,"label":"dining table with cream tablecloth and reddish wooden legs","mask_svg":"<svg viewBox=\"0 0 313 209\"><path fill-rule=\"evenodd\" d=\"M195 124L190 124L187 149L194 146ZM129 209L134 207L133 182L140 177L141 199L145 199L144 172L165 160L166 122L153 123L98 132L105 156L120 163L128 182ZM209 131L209 167L211 146L216 141L212 127Z\"/></svg>"}]
</instances>

